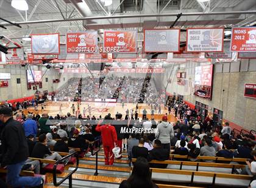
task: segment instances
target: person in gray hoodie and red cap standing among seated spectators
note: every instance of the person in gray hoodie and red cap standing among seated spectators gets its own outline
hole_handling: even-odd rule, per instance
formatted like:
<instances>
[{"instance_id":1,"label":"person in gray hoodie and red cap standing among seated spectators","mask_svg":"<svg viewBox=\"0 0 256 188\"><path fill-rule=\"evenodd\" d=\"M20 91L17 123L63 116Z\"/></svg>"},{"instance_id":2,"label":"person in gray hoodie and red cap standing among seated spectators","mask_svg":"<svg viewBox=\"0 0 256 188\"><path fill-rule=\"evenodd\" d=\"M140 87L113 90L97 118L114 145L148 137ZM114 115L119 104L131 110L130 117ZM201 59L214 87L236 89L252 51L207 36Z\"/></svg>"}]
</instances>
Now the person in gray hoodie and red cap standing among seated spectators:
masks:
<instances>
[{"instance_id":1,"label":"person in gray hoodie and red cap standing among seated spectators","mask_svg":"<svg viewBox=\"0 0 256 188\"><path fill-rule=\"evenodd\" d=\"M174 137L174 130L170 123L167 122L167 116L163 116L162 123L157 125L157 132L155 138L159 139L162 143L163 149L171 150L171 138Z\"/></svg>"}]
</instances>

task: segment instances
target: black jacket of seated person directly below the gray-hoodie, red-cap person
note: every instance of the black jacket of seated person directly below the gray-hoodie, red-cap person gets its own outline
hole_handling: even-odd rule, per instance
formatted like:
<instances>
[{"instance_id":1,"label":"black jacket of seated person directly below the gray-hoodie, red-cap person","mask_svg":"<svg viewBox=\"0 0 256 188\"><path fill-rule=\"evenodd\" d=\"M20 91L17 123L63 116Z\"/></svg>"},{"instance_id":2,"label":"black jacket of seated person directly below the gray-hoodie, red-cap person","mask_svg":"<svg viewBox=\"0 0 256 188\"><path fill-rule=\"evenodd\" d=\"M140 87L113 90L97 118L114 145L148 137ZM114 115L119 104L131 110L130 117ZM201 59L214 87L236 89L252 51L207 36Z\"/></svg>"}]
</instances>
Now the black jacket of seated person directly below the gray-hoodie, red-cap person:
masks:
<instances>
[{"instance_id":1,"label":"black jacket of seated person directly below the gray-hoodie, red-cap person","mask_svg":"<svg viewBox=\"0 0 256 188\"><path fill-rule=\"evenodd\" d=\"M163 149L162 147L155 147L151 151L149 151L148 161L157 160L157 161L165 161L169 159L169 152L167 149ZM165 169L167 164L150 164L151 168Z\"/></svg>"}]
</instances>

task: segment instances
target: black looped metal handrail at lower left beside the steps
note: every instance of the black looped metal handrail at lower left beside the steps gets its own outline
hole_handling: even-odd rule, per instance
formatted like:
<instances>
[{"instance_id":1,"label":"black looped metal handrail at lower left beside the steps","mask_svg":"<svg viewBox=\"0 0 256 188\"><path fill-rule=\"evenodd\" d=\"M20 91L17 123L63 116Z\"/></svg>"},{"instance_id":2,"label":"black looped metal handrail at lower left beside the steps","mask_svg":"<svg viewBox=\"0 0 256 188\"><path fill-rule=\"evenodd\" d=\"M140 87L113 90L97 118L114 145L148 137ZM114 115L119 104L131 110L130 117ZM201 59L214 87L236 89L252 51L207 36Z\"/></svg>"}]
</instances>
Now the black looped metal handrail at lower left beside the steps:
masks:
<instances>
[{"instance_id":1,"label":"black looped metal handrail at lower left beside the steps","mask_svg":"<svg viewBox=\"0 0 256 188\"><path fill-rule=\"evenodd\" d=\"M58 183L57 183L57 172L56 172L56 169L57 169L57 165L64 161L65 159L71 157L71 156L76 156L76 168L74 170L72 170L72 172L69 172L68 175L65 176L65 178L63 178L62 180L60 180ZM78 166L79 166L79 158L78 158L78 154L77 152L74 152L74 153L70 153L69 155L66 155L64 156L63 158L57 160L55 163L54 163L54 168L53 168L53 182L54 182L54 186L60 186L60 184L62 184L66 179L69 180L68 182L68 187L71 188L72 187L72 175L73 173L76 172L76 170L78 169Z\"/></svg>"}]
</instances>

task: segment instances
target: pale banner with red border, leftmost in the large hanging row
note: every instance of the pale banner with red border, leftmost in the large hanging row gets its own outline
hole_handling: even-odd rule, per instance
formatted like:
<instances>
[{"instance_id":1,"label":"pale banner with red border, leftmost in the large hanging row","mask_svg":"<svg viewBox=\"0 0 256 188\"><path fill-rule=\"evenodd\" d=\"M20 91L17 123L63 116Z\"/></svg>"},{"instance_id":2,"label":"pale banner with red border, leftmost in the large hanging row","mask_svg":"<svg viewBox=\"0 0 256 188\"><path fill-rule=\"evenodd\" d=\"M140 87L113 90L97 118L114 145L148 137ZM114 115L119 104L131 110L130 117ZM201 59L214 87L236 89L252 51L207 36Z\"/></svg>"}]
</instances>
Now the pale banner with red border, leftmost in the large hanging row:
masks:
<instances>
[{"instance_id":1,"label":"pale banner with red border, leftmost in the large hanging row","mask_svg":"<svg viewBox=\"0 0 256 188\"><path fill-rule=\"evenodd\" d=\"M32 54L60 54L59 33L31 35Z\"/></svg>"}]
</instances>

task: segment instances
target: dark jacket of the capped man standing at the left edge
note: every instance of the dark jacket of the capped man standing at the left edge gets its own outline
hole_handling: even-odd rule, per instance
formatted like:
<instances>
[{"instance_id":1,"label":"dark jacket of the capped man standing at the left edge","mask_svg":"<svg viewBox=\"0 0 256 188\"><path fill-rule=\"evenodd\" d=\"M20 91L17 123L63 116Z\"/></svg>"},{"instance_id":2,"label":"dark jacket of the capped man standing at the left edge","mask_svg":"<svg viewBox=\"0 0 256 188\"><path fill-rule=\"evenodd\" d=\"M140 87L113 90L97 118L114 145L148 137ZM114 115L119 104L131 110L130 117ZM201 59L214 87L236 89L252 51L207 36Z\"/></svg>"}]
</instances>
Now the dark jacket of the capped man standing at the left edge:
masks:
<instances>
[{"instance_id":1,"label":"dark jacket of the capped man standing at the left edge","mask_svg":"<svg viewBox=\"0 0 256 188\"><path fill-rule=\"evenodd\" d=\"M23 126L13 118L5 122L1 134L2 163L1 166L26 161L29 156L29 147Z\"/></svg>"}]
</instances>

